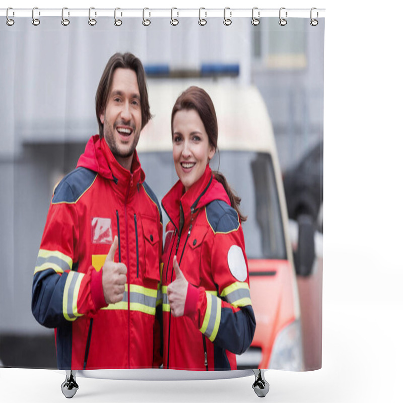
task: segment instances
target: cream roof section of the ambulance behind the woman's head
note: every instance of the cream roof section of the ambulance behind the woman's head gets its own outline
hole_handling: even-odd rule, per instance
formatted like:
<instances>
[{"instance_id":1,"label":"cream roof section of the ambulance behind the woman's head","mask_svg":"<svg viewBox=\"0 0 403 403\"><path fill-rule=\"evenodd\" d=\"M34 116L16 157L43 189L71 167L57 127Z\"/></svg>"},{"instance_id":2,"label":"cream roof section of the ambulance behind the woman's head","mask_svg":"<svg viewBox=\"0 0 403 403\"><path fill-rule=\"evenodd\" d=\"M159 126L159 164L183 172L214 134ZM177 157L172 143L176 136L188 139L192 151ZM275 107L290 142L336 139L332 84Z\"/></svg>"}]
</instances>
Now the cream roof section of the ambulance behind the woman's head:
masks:
<instances>
[{"instance_id":1,"label":"cream roof section of the ambulance behind the woman's head","mask_svg":"<svg viewBox=\"0 0 403 403\"><path fill-rule=\"evenodd\" d=\"M171 151L171 112L177 97L190 85L210 95L218 119L219 150L243 150L275 153L273 127L263 98L254 86L233 83L195 83L148 81L153 115L144 127L137 150ZM263 136L262 136L263 133Z\"/></svg>"}]
</instances>

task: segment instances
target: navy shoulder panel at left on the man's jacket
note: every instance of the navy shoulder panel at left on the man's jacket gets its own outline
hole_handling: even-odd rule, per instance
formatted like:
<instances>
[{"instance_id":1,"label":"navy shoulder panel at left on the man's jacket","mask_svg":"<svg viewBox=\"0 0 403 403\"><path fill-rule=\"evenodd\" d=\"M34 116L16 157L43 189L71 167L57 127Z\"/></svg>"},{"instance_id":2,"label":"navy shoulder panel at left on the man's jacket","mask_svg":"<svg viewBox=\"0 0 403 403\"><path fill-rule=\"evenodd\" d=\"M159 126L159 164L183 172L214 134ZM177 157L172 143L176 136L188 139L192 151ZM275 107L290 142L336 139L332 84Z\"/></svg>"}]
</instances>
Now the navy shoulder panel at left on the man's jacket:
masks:
<instances>
[{"instance_id":1,"label":"navy shoulder panel at left on the man's jacket","mask_svg":"<svg viewBox=\"0 0 403 403\"><path fill-rule=\"evenodd\" d=\"M97 173L90 169L79 167L70 172L60 181L54 190L52 204L76 203L83 193L94 182Z\"/></svg>"}]
</instances>

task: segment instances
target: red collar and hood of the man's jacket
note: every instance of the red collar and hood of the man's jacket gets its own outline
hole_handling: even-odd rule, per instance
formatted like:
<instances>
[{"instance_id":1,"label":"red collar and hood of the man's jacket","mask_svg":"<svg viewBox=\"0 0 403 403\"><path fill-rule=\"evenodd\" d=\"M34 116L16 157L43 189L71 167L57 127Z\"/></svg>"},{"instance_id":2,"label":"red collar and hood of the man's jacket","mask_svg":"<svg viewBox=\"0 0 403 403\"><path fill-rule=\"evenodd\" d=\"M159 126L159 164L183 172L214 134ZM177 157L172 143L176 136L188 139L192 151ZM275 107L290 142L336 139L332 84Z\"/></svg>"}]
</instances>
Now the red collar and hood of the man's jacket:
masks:
<instances>
[{"instance_id":1,"label":"red collar and hood of the man's jacket","mask_svg":"<svg viewBox=\"0 0 403 403\"><path fill-rule=\"evenodd\" d=\"M112 154L105 139L100 139L99 135L92 136L88 141L84 154L81 155L77 167L85 167L97 172L105 179L115 182L116 189L123 195L132 194L136 187L144 182L146 177L141 168L137 151L133 155L131 169L123 168Z\"/></svg>"}]
</instances>

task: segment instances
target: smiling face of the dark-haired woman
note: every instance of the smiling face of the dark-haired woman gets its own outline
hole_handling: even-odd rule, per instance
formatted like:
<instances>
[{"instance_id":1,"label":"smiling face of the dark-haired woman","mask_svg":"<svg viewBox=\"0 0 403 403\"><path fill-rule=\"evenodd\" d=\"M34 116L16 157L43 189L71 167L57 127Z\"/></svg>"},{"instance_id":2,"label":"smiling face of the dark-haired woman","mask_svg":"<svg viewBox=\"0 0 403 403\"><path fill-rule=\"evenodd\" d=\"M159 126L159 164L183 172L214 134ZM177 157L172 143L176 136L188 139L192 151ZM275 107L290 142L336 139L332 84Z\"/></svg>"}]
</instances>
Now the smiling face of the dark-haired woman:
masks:
<instances>
[{"instance_id":1,"label":"smiling face of the dark-haired woman","mask_svg":"<svg viewBox=\"0 0 403 403\"><path fill-rule=\"evenodd\" d=\"M186 191L203 175L215 152L198 113L194 109L176 112L173 118L173 161Z\"/></svg>"}]
</instances>

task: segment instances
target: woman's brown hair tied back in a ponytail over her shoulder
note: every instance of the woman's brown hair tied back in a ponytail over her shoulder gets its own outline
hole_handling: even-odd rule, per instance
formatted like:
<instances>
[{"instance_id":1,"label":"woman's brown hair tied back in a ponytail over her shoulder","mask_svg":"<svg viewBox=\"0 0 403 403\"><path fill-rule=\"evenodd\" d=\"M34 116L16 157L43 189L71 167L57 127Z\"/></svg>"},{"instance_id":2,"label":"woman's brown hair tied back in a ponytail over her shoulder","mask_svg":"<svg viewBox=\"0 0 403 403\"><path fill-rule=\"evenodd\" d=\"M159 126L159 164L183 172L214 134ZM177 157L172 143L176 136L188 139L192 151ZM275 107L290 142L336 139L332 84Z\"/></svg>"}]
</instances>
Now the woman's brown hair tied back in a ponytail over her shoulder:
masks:
<instances>
[{"instance_id":1,"label":"woman's brown hair tied back in a ponytail over her shoulder","mask_svg":"<svg viewBox=\"0 0 403 403\"><path fill-rule=\"evenodd\" d=\"M180 110L190 110L194 109L198 115L200 116L201 121L203 122L207 136L209 137L209 143L214 147L215 150L217 148L217 140L218 140L218 124L217 124L217 115L216 110L214 108L213 101L211 100L209 94L203 89L199 87L189 87L182 94L179 95L178 99L175 102L175 105L172 108L171 114L171 133L173 140L173 118L175 113ZM231 202L231 207L238 213L239 220L242 222L246 221L246 216L242 215L239 205L241 203L241 198L232 190L231 186L228 184L225 176L218 171L213 171L214 177L220 182L225 191L228 194L228 197Z\"/></svg>"}]
</instances>

